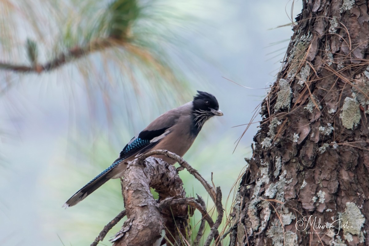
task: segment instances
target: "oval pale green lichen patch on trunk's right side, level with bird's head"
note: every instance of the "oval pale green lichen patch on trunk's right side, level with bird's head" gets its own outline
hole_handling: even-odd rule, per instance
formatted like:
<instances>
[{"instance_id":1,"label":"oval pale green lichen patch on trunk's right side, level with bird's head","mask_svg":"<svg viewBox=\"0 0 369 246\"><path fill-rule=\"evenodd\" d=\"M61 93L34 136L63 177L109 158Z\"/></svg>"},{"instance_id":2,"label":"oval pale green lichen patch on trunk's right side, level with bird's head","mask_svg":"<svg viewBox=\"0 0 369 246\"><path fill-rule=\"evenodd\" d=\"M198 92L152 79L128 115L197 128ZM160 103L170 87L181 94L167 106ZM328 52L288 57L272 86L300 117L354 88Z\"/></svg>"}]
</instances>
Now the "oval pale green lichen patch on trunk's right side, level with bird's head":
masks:
<instances>
[{"instance_id":1,"label":"oval pale green lichen patch on trunk's right side, level with bird's head","mask_svg":"<svg viewBox=\"0 0 369 246\"><path fill-rule=\"evenodd\" d=\"M342 106L339 118L342 120L342 125L347 129L356 127L361 119L359 103L356 98L346 97Z\"/></svg>"}]
</instances>

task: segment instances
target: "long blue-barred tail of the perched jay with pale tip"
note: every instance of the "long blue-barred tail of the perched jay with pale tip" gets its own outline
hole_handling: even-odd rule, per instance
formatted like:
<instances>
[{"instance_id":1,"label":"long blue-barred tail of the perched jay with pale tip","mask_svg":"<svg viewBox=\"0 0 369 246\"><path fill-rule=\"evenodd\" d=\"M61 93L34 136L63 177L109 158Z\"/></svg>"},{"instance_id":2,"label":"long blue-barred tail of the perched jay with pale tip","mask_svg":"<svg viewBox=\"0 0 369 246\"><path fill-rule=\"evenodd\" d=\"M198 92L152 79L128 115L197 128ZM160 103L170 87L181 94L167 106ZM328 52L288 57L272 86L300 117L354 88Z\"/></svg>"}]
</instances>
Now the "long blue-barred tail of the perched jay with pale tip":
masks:
<instances>
[{"instance_id":1,"label":"long blue-barred tail of the perched jay with pale tip","mask_svg":"<svg viewBox=\"0 0 369 246\"><path fill-rule=\"evenodd\" d=\"M113 176L116 174L115 173L116 170L114 171L114 167L116 167L120 162L121 160L116 160L113 164L110 165L110 167L102 171L93 180L91 180L89 183L83 186L79 191L77 191L76 194L72 195L72 197L70 197L68 201L65 202L63 207L68 208L68 207L76 205L78 202L85 199L89 194L97 190L97 188L105 184L106 181L113 178Z\"/></svg>"}]
</instances>

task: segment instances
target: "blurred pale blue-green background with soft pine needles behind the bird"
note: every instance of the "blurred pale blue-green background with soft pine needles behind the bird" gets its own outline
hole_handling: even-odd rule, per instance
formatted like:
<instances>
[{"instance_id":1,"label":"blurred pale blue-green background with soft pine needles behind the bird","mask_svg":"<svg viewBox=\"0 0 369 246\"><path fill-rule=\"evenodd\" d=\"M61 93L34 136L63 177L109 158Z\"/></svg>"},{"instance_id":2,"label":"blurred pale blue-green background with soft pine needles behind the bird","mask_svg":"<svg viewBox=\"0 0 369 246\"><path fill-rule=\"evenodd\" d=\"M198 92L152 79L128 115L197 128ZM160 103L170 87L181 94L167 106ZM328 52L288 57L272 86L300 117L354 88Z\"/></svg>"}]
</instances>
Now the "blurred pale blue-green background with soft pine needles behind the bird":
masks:
<instances>
[{"instance_id":1,"label":"blurred pale blue-green background with soft pine needles behind the bird","mask_svg":"<svg viewBox=\"0 0 369 246\"><path fill-rule=\"evenodd\" d=\"M208 181L213 173L229 213L259 116L236 144L275 81L301 0L138 1L124 37L109 26L112 3L0 0L2 245L90 245L124 208L119 180L75 207L64 202L196 90L214 94L224 116L206 123L184 159ZM123 44L85 50L51 71L8 66L45 64L112 34ZM211 208L200 183L180 176L187 195Z\"/></svg>"}]
</instances>

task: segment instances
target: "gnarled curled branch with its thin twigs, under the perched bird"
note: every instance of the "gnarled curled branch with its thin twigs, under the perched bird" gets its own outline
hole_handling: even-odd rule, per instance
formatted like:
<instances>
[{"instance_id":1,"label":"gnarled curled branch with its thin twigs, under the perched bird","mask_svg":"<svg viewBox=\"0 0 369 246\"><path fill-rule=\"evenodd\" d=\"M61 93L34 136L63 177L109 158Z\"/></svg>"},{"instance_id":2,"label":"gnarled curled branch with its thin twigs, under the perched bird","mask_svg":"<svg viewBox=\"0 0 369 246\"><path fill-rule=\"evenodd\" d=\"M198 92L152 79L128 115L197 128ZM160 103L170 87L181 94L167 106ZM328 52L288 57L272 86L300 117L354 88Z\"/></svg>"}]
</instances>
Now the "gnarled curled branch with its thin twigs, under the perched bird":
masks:
<instances>
[{"instance_id":1,"label":"gnarled curled branch with its thin twigs, under the perched bird","mask_svg":"<svg viewBox=\"0 0 369 246\"><path fill-rule=\"evenodd\" d=\"M215 195L214 200L218 213L215 223L206 211L205 202L199 195L197 199L185 197L183 183L175 167L162 159L149 157L152 155L165 155L177 160L183 168L189 170L200 180L210 196ZM201 224L207 221L211 227L205 246L210 245L213 238L216 245L221 246L218 232L218 227L223 219L220 187L217 187L215 192L213 187L181 157L167 150L145 153L128 164L121 185L127 211L127 221L124 222L122 229L112 239L113 246L152 245L161 237L162 230L165 230L164 243L167 243L167 245L183 245L190 237L191 229L188 224L188 215L193 215L193 209L198 209L201 212L203 216ZM155 201L152 197L150 187L159 193L158 201ZM188 211L189 206L192 208L190 211ZM115 223L115 219L113 221ZM112 227L113 221L104 227L92 246L104 238L108 228ZM204 225L200 226L200 231L194 242L195 245L201 239L203 230Z\"/></svg>"}]
</instances>

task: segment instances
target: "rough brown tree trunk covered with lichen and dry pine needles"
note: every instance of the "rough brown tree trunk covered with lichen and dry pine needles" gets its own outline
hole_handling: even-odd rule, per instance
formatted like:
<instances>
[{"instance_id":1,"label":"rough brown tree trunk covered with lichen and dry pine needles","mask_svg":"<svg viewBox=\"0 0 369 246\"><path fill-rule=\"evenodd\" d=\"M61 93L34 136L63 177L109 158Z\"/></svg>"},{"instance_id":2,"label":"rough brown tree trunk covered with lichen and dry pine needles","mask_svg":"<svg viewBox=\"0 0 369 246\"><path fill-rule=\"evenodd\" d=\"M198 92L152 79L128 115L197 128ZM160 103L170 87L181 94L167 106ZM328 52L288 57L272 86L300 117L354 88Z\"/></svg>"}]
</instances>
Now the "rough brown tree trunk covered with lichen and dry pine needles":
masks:
<instances>
[{"instance_id":1,"label":"rough brown tree trunk covered with lichen and dry pine needles","mask_svg":"<svg viewBox=\"0 0 369 246\"><path fill-rule=\"evenodd\" d=\"M369 245L368 1L304 0L296 20L230 245Z\"/></svg>"}]
</instances>

